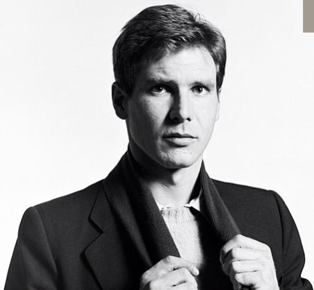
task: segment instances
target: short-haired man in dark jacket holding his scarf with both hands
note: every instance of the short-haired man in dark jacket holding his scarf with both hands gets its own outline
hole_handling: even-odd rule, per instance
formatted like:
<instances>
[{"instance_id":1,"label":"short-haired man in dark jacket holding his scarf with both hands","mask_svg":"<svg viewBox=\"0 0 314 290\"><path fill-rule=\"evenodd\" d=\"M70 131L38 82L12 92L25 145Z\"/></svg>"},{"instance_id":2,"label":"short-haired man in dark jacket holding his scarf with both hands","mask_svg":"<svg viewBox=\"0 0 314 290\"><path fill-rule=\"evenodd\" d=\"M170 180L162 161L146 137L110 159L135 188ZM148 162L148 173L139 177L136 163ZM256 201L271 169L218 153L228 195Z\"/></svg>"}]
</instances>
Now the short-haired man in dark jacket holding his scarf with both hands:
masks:
<instances>
[{"instance_id":1,"label":"short-haired man in dark jacket holding his scarf with both hands","mask_svg":"<svg viewBox=\"0 0 314 290\"><path fill-rule=\"evenodd\" d=\"M113 58L128 152L105 180L26 210L5 289L312 289L278 194L204 169L223 35L154 6L126 24Z\"/></svg>"}]
</instances>

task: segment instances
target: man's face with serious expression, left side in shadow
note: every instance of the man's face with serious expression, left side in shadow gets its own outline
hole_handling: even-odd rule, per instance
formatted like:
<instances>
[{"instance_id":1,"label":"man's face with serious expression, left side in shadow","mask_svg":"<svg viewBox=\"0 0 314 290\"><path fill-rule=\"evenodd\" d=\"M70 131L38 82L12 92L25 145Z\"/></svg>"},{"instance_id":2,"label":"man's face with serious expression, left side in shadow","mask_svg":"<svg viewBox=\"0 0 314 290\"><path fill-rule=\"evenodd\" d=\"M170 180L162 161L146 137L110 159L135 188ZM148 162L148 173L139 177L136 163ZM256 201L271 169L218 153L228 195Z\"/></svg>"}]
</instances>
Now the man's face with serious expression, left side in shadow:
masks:
<instances>
[{"instance_id":1,"label":"man's face with serious expression, left side in shadow","mask_svg":"<svg viewBox=\"0 0 314 290\"><path fill-rule=\"evenodd\" d=\"M202 158L218 119L216 66L203 46L141 66L126 103L130 147L167 169Z\"/></svg>"}]
</instances>

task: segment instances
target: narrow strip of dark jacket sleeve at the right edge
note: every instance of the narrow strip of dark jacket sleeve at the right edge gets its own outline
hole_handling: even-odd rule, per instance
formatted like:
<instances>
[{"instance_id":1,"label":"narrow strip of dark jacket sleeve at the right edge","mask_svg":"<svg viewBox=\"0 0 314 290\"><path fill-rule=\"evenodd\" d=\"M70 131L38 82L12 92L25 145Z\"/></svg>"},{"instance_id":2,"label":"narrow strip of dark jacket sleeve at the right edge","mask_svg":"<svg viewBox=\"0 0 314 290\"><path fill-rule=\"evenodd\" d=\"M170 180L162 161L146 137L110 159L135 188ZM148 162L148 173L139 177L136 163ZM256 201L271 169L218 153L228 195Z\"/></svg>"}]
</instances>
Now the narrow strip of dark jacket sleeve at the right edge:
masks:
<instances>
[{"instance_id":1,"label":"narrow strip of dark jacket sleeve at the right edge","mask_svg":"<svg viewBox=\"0 0 314 290\"><path fill-rule=\"evenodd\" d=\"M299 232L288 207L276 192L272 191L277 201L281 216L281 229L283 241L283 277L281 289L284 290L313 290L311 283L301 277L304 267L304 250Z\"/></svg>"}]
</instances>

